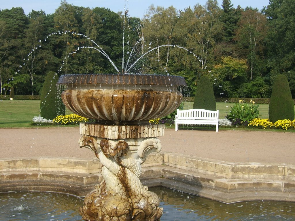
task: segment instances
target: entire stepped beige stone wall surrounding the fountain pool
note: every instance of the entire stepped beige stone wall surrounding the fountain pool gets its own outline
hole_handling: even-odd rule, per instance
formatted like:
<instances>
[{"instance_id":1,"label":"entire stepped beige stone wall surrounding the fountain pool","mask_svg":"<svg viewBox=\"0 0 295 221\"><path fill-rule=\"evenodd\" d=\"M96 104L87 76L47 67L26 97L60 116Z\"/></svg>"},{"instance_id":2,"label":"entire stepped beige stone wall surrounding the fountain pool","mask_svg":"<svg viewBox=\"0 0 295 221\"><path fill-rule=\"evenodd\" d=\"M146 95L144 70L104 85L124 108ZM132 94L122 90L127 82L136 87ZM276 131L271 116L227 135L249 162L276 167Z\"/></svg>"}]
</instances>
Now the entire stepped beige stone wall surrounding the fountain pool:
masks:
<instances>
[{"instance_id":1,"label":"entire stepped beige stone wall surrounding the fountain pool","mask_svg":"<svg viewBox=\"0 0 295 221\"><path fill-rule=\"evenodd\" d=\"M97 158L0 158L0 192L38 190L85 196L101 182ZM141 181L224 203L295 202L295 166L231 163L179 153L150 154Z\"/></svg>"}]
</instances>

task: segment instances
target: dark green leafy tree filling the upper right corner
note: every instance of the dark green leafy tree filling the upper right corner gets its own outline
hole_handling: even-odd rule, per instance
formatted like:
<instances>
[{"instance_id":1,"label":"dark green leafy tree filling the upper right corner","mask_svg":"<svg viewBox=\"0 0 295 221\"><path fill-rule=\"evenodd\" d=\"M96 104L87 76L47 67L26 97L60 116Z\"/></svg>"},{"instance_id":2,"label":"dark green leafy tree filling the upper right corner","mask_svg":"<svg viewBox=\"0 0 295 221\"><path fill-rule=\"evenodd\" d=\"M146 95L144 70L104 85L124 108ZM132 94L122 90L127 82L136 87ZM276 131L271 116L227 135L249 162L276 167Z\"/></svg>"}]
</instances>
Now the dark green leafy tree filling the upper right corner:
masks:
<instances>
[{"instance_id":1,"label":"dark green leafy tree filling the upper right corner","mask_svg":"<svg viewBox=\"0 0 295 221\"><path fill-rule=\"evenodd\" d=\"M268 72L271 81L286 75L295 96L295 4L293 0L271 0L265 9L268 18Z\"/></svg>"}]
</instances>

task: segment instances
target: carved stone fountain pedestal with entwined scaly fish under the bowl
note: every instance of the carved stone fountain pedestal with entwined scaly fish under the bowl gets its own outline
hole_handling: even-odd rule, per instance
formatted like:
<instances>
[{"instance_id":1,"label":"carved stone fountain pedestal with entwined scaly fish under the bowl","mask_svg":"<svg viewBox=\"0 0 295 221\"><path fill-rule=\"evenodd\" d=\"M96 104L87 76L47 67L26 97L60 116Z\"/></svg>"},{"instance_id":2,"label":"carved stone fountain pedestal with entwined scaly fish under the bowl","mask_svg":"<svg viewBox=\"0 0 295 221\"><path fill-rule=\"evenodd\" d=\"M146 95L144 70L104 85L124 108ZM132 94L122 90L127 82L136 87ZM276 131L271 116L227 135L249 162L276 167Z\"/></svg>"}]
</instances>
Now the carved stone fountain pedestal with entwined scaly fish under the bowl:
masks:
<instances>
[{"instance_id":1,"label":"carved stone fountain pedestal with entwined scaly fish under the bowl","mask_svg":"<svg viewBox=\"0 0 295 221\"><path fill-rule=\"evenodd\" d=\"M159 153L165 125L105 125L81 123L80 147L94 152L103 180L86 195L84 220L160 220L158 196L139 180L148 154Z\"/></svg>"}]
</instances>

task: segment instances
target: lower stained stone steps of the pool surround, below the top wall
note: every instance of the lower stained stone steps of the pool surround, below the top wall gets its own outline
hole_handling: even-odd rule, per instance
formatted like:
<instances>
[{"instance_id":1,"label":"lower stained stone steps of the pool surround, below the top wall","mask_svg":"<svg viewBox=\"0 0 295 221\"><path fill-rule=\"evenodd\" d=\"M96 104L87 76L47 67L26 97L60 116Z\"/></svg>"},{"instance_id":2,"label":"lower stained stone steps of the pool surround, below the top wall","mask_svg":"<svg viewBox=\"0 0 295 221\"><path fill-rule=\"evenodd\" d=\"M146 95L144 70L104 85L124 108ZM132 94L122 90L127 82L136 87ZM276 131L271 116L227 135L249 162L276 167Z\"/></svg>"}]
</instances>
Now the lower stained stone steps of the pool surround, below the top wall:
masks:
<instances>
[{"instance_id":1,"label":"lower stained stone steps of the pool surround, below the top wall","mask_svg":"<svg viewBox=\"0 0 295 221\"><path fill-rule=\"evenodd\" d=\"M143 168L143 184L161 180L160 185L220 202L284 200L295 202L295 182L282 180L220 179L197 172L152 166ZM85 196L101 181L100 175L30 171L0 173L0 192L17 190L55 191Z\"/></svg>"}]
</instances>

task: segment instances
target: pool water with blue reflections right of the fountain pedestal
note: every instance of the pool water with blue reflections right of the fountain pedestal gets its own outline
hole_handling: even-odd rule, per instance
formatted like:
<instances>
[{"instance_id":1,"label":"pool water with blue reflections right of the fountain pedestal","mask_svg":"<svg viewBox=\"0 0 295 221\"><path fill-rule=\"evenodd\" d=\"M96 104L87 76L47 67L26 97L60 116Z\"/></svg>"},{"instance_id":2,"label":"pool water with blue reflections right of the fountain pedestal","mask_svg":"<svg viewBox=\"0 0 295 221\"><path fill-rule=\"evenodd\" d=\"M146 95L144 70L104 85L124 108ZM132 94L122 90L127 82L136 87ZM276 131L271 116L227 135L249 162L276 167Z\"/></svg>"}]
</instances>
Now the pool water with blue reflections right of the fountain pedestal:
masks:
<instances>
[{"instance_id":1,"label":"pool water with blue reflections right of the fountain pedestal","mask_svg":"<svg viewBox=\"0 0 295 221\"><path fill-rule=\"evenodd\" d=\"M246 201L225 204L178 190L155 187L163 207L161 221L196 220L295 220L295 203L283 201Z\"/></svg>"}]
</instances>

